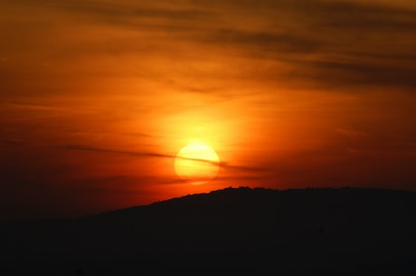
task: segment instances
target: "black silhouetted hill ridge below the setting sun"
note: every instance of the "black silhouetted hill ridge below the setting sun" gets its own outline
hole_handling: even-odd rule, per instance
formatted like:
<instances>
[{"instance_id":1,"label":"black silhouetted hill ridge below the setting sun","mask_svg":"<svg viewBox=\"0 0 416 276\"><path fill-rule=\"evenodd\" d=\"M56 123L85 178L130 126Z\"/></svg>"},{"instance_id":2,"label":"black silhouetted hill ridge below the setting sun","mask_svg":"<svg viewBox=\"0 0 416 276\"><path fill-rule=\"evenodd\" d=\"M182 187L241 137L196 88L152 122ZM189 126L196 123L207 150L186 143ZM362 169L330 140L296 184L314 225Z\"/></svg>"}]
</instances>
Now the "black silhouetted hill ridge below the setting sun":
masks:
<instances>
[{"instance_id":1,"label":"black silhouetted hill ridge below the setting sun","mask_svg":"<svg viewBox=\"0 0 416 276\"><path fill-rule=\"evenodd\" d=\"M226 188L2 238L4 275L416 275L416 193Z\"/></svg>"}]
</instances>

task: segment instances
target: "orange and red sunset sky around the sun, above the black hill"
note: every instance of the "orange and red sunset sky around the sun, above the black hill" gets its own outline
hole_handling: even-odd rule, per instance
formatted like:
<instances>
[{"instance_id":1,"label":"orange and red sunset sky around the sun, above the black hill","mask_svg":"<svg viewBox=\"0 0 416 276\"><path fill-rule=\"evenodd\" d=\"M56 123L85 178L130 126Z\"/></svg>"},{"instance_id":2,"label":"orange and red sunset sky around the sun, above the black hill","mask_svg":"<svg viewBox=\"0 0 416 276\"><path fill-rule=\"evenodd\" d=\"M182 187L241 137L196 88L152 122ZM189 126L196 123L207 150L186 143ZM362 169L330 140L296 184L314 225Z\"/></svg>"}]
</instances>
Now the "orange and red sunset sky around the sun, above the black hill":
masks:
<instances>
[{"instance_id":1,"label":"orange and red sunset sky around the sun, above the black hill","mask_svg":"<svg viewBox=\"0 0 416 276\"><path fill-rule=\"evenodd\" d=\"M0 0L0 215L416 190L413 0ZM203 185L176 176L199 142Z\"/></svg>"}]
</instances>

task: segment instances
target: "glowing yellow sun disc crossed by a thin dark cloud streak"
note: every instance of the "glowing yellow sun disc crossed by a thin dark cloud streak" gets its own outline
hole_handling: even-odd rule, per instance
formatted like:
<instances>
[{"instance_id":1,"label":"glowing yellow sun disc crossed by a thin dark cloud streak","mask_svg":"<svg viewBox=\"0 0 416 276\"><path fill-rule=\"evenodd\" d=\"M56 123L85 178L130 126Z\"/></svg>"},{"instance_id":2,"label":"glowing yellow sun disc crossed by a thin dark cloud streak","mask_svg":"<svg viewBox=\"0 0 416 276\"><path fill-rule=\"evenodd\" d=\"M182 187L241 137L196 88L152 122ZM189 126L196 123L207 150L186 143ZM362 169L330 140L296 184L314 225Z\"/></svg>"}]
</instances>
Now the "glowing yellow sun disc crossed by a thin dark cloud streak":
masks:
<instances>
[{"instance_id":1,"label":"glowing yellow sun disc crossed by a thin dark cloud streak","mask_svg":"<svg viewBox=\"0 0 416 276\"><path fill-rule=\"evenodd\" d=\"M213 148L193 143L182 148L175 157L175 172L181 179L201 185L218 174L220 158Z\"/></svg>"}]
</instances>

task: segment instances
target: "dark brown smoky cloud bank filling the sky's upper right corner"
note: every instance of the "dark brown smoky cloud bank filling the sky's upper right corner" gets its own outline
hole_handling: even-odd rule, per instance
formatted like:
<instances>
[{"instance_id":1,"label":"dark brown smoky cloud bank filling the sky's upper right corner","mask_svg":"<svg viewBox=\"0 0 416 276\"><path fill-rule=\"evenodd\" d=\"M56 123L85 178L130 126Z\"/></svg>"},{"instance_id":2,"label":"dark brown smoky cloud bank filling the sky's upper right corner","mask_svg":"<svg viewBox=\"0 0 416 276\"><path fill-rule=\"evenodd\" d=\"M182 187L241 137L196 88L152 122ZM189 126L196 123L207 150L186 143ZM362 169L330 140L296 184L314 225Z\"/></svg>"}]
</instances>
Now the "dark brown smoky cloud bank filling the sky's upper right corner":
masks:
<instances>
[{"instance_id":1,"label":"dark brown smoky cloud bank filling the sky's upper right corner","mask_svg":"<svg viewBox=\"0 0 416 276\"><path fill-rule=\"evenodd\" d=\"M223 28L207 37L292 66L288 73L277 68L266 78L280 74L317 85L416 86L416 11L353 2L282 3L270 9L282 12L269 12L275 18L268 28ZM280 19L283 13L290 18Z\"/></svg>"}]
</instances>

